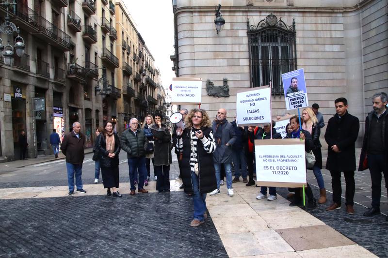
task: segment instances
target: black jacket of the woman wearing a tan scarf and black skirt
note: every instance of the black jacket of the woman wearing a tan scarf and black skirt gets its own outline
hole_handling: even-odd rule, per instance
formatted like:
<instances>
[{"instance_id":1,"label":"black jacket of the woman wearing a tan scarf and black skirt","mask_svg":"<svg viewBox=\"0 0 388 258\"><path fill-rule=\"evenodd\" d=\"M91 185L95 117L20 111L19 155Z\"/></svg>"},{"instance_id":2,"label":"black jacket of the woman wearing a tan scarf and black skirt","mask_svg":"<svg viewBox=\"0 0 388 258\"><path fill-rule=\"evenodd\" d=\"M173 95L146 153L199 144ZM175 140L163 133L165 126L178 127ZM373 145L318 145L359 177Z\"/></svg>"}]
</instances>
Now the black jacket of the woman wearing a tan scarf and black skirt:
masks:
<instances>
[{"instance_id":1,"label":"black jacket of the woman wearing a tan scarf and black skirt","mask_svg":"<svg viewBox=\"0 0 388 258\"><path fill-rule=\"evenodd\" d=\"M109 152L106 150L106 140L103 134L99 135L96 142L98 158L101 167L115 167L119 165L118 154L120 153L120 140L116 133L114 134L114 158L108 157Z\"/></svg>"}]
</instances>

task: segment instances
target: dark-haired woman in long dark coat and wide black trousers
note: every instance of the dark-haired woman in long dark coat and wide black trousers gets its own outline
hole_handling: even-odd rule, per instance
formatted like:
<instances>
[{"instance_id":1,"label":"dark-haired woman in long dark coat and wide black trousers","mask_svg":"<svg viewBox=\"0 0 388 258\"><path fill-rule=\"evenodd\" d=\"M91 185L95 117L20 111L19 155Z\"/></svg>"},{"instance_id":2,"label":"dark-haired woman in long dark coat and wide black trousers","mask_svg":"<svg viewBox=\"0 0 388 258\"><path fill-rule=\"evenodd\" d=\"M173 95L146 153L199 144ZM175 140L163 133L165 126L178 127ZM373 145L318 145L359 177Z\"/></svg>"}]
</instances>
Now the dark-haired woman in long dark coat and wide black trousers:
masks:
<instances>
[{"instance_id":1,"label":"dark-haired woman in long dark coat and wide black trousers","mask_svg":"<svg viewBox=\"0 0 388 258\"><path fill-rule=\"evenodd\" d=\"M162 123L162 115L155 114L155 123L150 127L155 141L154 173L157 176L156 190L170 192L170 156L171 135L167 126Z\"/></svg>"}]
</instances>

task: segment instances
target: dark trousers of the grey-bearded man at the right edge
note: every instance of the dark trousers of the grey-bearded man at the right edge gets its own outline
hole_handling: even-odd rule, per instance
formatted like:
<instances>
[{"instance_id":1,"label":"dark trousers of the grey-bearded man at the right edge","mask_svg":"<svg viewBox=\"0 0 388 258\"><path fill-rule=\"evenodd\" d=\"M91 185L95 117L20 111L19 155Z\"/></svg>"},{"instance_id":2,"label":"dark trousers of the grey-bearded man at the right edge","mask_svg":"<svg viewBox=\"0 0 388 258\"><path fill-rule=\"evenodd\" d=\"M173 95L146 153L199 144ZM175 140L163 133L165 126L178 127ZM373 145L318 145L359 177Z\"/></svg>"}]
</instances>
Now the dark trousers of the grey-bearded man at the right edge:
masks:
<instances>
[{"instance_id":1,"label":"dark trousers of the grey-bearded man at the right edge","mask_svg":"<svg viewBox=\"0 0 388 258\"><path fill-rule=\"evenodd\" d=\"M368 166L372 179L372 207L380 207L381 198L381 172L384 174L385 187L388 189L387 160L384 154L368 154Z\"/></svg>"}]
</instances>

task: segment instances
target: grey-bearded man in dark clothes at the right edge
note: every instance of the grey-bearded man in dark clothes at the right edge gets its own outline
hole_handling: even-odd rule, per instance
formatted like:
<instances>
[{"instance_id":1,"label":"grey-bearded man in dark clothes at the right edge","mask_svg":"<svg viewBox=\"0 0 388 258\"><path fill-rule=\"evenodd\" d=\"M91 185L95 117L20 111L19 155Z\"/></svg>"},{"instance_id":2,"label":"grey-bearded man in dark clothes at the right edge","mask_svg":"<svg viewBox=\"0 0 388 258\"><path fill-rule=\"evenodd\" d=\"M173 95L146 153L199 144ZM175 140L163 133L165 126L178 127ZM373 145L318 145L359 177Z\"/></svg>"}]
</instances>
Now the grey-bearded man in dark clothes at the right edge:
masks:
<instances>
[{"instance_id":1,"label":"grey-bearded man in dark clothes at the right edge","mask_svg":"<svg viewBox=\"0 0 388 258\"><path fill-rule=\"evenodd\" d=\"M358 171L364 170L364 159L371 172L372 207L364 216L380 213L381 172L384 174L385 187L388 189L388 96L385 92L378 92L372 96L373 110L365 119L365 134L362 145L360 166ZM388 216L386 217L388 221Z\"/></svg>"}]
</instances>

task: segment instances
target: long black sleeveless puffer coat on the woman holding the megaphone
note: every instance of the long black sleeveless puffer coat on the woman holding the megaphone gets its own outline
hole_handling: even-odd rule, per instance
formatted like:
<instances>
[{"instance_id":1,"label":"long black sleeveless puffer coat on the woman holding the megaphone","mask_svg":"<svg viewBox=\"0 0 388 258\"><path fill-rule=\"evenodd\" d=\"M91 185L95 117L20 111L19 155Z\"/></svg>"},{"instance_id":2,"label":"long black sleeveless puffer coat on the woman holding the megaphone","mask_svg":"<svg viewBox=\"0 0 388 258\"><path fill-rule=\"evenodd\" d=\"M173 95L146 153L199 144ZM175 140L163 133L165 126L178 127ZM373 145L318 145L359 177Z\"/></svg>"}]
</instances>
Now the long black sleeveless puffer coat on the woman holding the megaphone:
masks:
<instances>
[{"instance_id":1,"label":"long black sleeveless puffer coat on the woman holding the megaphone","mask_svg":"<svg viewBox=\"0 0 388 258\"><path fill-rule=\"evenodd\" d=\"M201 127L203 135L209 138L211 132L210 127ZM183 189L186 194L193 194L193 184L191 182L191 167L190 167L190 129L186 128L182 132L183 140L183 157L181 176L183 181ZM199 166L199 192L206 194L212 192L217 188L217 181L215 178L215 169L213 163L213 155L207 153L200 140L197 141L197 159Z\"/></svg>"}]
</instances>

